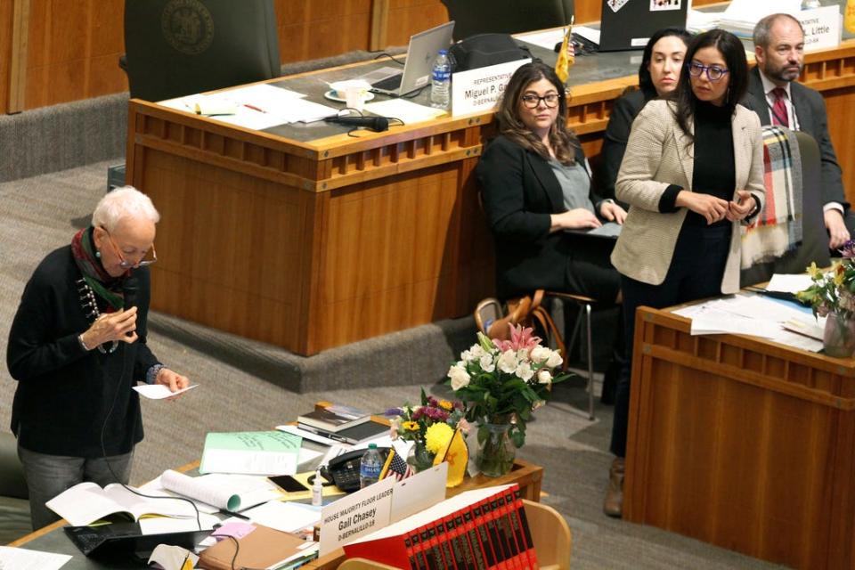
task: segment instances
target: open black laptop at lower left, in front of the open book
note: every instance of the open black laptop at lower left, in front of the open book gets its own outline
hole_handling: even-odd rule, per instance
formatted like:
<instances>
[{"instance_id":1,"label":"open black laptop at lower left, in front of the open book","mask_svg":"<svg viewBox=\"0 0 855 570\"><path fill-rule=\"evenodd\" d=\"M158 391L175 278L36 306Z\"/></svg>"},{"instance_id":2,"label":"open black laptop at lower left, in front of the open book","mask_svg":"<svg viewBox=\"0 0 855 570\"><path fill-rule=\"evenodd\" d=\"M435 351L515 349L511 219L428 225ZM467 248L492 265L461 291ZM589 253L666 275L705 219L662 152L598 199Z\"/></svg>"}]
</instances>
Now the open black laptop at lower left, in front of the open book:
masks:
<instances>
[{"instance_id":1,"label":"open black laptop at lower left, in front of the open book","mask_svg":"<svg viewBox=\"0 0 855 570\"><path fill-rule=\"evenodd\" d=\"M69 540L92 558L131 557L148 560L158 544L173 544L192 551L212 531L143 534L138 523L112 523L101 526L63 526Z\"/></svg>"}]
</instances>

